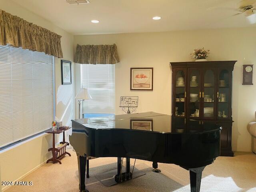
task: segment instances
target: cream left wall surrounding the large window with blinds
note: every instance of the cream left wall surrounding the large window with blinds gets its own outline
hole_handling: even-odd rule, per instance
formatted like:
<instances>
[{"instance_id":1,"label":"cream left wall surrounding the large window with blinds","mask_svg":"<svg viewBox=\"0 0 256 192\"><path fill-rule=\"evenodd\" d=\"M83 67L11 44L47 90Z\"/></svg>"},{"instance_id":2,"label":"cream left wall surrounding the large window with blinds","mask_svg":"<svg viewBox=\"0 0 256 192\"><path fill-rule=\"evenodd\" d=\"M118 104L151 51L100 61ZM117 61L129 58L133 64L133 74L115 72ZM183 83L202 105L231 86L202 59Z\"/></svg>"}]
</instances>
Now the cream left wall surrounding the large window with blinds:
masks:
<instances>
[{"instance_id":1,"label":"cream left wall surrounding the large window with blinds","mask_svg":"<svg viewBox=\"0 0 256 192\"><path fill-rule=\"evenodd\" d=\"M74 36L72 34L58 28L50 21L26 10L11 0L1 0L0 9L61 35L63 51L63 58L61 59L73 62ZM74 118L74 64L72 63L73 83L72 85L63 86L61 85L61 59L55 59L56 117L62 120L64 125L70 126L70 120ZM52 135L42 134L12 149L0 152L0 175L2 181L15 181L43 164L52 156L51 153L48 152L48 148L50 147L52 147Z\"/></svg>"}]
</instances>

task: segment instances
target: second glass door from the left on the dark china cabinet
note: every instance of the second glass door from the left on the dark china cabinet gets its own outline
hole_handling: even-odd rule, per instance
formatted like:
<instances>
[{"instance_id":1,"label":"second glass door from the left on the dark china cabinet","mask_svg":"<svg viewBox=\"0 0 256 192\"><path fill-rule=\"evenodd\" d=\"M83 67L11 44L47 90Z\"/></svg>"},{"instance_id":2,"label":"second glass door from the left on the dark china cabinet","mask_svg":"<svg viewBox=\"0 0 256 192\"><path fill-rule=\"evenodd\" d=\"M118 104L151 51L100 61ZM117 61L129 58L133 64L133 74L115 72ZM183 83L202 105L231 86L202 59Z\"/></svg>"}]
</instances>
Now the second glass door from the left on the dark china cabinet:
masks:
<instances>
[{"instance_id":1,"label":"second glass door from the left on the dark china cabinet","mask_svg":"<svg viewBox=\"0 0 256 192\"><path fill-rule=\"evenodd\" d=\"M200 118L201 70L188 70L188 116L190 119Z\"/></svg>"}]
</instances>

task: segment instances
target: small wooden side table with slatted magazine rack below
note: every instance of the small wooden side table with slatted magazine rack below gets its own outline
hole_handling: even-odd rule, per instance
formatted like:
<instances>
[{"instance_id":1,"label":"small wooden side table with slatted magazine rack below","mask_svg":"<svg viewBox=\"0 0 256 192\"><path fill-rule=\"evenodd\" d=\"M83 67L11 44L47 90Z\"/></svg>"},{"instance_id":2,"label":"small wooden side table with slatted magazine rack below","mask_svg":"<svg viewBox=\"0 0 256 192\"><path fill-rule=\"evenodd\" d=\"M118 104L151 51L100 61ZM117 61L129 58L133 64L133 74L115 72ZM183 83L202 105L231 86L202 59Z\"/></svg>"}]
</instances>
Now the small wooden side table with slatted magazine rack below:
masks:
<instances>
[{"instance_id":1,"label":"small wooden side table with slatted magazine rack below","mask_svg":"<svg viewBox=\"0 0 256 192\"><path fill-rule=\"evenodd\" d=\"M60 129L56 131L52 131L52 129L49 129L46 131L46 133L51 133L52 134L52 148L48 149L48 151L52 151L52 158L48 159L46 163L52 161L52 163L57 163L59 162L61 164L61 159L64 158L66 154L69 156L70 153L66 152L66 147L69 145L68 142L65 142L65 131L69 130L71 127L60 127ZM63 141L60 142L60 144L63 144L62 146L55 148L55 134L60 134L63 133Z\"/></svg>"}]
</instances>

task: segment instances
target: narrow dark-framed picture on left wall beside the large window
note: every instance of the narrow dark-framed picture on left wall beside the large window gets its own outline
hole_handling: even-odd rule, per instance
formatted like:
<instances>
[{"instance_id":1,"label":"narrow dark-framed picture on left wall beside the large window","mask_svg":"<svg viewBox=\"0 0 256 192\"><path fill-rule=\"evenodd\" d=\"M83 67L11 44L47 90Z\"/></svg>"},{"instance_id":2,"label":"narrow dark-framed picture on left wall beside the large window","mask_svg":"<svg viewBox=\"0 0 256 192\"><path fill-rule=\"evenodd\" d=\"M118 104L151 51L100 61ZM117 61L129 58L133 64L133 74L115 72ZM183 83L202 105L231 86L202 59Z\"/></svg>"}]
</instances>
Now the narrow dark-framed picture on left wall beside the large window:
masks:
<instances>
[{"instance_id":1,"label":"narrow dark-framed picture on left wall beside the large window","mask_svg":"<svg viewBox=\"0 0 256 192\"><path fill-rule=\"evenodd\" d=\"M61 60L61 82L62 85L72 84L71 62Z\"/></svg>"}]
</instances>

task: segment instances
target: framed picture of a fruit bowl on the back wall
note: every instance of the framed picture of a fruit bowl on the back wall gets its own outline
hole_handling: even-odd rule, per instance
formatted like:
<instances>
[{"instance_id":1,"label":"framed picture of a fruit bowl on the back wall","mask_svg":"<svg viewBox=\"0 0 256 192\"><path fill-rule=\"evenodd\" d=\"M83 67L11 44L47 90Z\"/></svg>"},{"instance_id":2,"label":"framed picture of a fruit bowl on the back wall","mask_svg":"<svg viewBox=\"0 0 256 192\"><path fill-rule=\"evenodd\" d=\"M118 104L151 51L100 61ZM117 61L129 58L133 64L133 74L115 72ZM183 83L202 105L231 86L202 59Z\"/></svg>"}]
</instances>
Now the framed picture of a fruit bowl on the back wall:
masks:
<instances>
[{"instance_id":1,"label":"framed picture of a fruit bowl on the back wall","mask_svg":"<svg viewBox=\"0 0 256 192\"><path fill-rule=\"evenodd\" d=\"M131 68L130 90L153 90L153 68Z\"/></svg>"}]
</instances>

